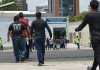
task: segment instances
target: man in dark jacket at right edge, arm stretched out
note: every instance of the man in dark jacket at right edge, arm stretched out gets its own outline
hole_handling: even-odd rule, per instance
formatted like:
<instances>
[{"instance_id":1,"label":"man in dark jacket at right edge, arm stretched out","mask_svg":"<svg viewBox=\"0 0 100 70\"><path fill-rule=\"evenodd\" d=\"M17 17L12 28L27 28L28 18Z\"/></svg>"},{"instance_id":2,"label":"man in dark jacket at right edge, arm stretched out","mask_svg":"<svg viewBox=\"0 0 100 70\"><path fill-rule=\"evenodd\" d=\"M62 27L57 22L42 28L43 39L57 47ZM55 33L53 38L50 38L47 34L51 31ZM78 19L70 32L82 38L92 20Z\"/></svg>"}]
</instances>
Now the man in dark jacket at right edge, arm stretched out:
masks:
<instances>
[{"instance_id":1,"label":"man in dark jacket at right edge, arm stretched out","mask_svg":"<svg viewBox=\"0 0 100 70\"><path fill-rule=\"evenodd\" d=\"M100 12L98 12L99 2L90 2L91 11L85 16L83 23L75 31L81 31L87 24L89 25L91 43L94 51L94 63L91 70L100 67Z\"/></svg>"}]
</instances>

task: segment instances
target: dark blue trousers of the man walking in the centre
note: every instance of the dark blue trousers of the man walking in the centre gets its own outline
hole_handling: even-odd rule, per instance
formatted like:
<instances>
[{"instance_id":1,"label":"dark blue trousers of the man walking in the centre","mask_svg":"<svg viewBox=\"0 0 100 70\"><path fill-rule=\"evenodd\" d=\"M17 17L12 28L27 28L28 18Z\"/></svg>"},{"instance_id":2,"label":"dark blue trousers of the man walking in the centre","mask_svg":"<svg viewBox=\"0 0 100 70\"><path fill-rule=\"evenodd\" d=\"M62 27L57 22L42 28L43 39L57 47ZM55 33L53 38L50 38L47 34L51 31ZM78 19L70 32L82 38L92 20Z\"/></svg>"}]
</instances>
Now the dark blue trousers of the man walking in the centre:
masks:
<instances>
[{"instance_id":1,"label":"dark blue trousers of the man walking in the centre","mask_svg":"<svg viewBox=\"0 0 100 70\"><path fill-rule=\"evenodd\" d=\"M38 57L39 63L44 63L45 38L36 38L35 47L37 49L37 57Z\"/></svg>"}]
</instances>

